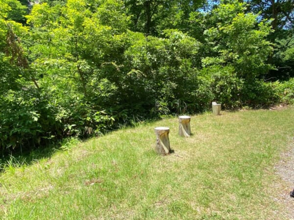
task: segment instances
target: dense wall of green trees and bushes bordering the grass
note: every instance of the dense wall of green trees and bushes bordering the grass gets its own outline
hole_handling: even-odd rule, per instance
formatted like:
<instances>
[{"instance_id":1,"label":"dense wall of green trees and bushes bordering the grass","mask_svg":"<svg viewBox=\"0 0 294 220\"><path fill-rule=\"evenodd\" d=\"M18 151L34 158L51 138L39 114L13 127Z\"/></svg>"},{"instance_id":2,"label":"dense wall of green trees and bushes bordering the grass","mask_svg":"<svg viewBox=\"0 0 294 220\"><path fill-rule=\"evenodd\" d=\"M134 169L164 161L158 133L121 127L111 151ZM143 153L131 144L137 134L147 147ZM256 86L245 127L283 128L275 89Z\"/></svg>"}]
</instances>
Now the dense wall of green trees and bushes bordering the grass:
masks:
<instances>
[{"instance_id":1,"label":"dense wall of green trees and bushes bordering the grass","mask_svg":"<svg viewBox=\"0 0 294 220\"><path fill-rule=\"evenodd\" d=\"M214 100L292 104L293 5L270 20L259 4L0 0L0 149L200 112ZM281 67L287 81L267 81Z\"/></svg>"}]
</instances>

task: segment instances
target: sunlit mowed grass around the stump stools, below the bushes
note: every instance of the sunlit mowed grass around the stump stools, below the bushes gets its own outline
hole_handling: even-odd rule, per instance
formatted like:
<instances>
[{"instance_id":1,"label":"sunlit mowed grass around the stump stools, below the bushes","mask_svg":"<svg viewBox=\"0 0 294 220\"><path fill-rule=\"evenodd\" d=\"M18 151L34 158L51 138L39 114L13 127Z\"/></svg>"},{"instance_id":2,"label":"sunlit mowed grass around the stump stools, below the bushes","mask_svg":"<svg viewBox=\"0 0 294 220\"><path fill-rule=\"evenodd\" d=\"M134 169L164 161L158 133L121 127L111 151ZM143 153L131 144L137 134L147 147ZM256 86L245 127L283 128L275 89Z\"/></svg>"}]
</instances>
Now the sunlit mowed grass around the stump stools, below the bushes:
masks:
<instances>
[{"instance_id":1,"label":"sunlit mowed grass around the stump stools, below the bushes","mask_svg":"<svg viewBox=\"0 0 294 220\"><path fill-rule=\"evenodd\" d=\"M285 219L271 187L293 143L294 108L195 115L93 138L0 174L2 219ZM170 127L174 154L154 152ZM290 193L290 191L289 191Z\"/></svg>"}]
</instances>

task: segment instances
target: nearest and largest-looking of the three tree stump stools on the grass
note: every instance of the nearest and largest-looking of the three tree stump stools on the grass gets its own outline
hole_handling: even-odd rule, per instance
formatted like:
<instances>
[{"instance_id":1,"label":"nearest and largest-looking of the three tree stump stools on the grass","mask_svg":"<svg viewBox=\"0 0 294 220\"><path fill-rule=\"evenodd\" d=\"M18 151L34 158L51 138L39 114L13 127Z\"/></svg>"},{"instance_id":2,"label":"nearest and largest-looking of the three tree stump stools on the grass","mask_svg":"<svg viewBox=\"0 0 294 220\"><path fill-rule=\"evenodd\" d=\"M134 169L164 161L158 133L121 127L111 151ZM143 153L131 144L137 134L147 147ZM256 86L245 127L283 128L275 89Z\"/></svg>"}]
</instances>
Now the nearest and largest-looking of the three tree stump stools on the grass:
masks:
<instances>
[{"instance_id":1,"label":"nearest and largest-looking of the three tree stump stools on the grass","mask_svg":"<svg viewBox=\"0 0 294 220\"><path fill-rule=\"evenodd\" d=\"M157 127L155 128L156 134L156 146L155 151L160 155L167 155L171 152L170 139L169 139L170 128Z\"/></svg>"}]
</instances>

